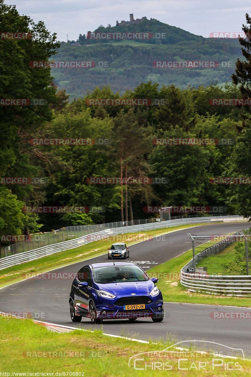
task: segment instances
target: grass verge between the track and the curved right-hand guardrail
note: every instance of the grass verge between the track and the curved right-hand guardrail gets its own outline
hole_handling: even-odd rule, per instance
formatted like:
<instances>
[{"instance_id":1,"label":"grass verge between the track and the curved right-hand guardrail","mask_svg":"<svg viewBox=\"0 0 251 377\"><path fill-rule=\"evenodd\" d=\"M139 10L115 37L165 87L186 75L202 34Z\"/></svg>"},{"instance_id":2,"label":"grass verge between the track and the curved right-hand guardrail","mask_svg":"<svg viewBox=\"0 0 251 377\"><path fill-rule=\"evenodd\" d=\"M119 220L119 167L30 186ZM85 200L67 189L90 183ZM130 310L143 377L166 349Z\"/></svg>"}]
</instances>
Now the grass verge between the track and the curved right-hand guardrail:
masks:
<instances>
[{"instance_id":1,"label":"grass verge between the track and the curved right-hand guardrail","mask_svg":"<svg viewBox=\"0 0 251 377\"><path fill-rule=\"evenodd\" d=\"M216 242L207 242L207 247L214 243ZM201 251L201 247L199 251ZM196 251L196 253L197 252L198 251ZM151 277L158 277L159 281L157 285L163 294L164 301L251 307L250 297L227 297L225 295L202 294L187 291L187 288L180 284L180 271L192 257L193 252L189 250L147 271L151 273Z\"/></svg>"}]
</instances>

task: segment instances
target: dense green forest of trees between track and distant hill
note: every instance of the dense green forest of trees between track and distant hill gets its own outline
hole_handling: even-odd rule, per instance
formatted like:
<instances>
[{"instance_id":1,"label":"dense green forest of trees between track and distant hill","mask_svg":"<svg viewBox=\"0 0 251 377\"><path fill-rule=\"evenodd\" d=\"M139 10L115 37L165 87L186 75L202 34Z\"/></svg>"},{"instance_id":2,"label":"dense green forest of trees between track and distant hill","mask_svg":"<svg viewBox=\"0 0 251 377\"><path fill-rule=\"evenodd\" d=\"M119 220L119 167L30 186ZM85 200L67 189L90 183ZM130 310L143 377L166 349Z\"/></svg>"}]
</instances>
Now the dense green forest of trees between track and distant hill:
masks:
<instances>
[{"instance_id":1,"label":"dense green forest of trees between track and distant hill","mask_svg":"<svg viewBox=\"0 0 251 377\"><path fill-rule=\"evenodd\" d=\"M250 97L250 40L240 41L233 84L180 89L149 80L123 96L107 85L68 102L48 60L59 47L42 22L20 16L0 0L1 29L30 32L30 40L0 43L0 98L44 98L44 106L0 106L0 233L29 234L67 225L144 218L147 205L226 206L250 216L250 185L217 185L211 177L251 176L249 106L212 106L212 98ZM251 21L247 16L250 28ZM59 59L58 59L59 60ZM7 63L8 64L5 64ZM245 70L244 65L245 64ZM83 90L84 92L84 90ZM164 99L156 106L90 106L95 98ZM34 145L33 138L108 139L108 144ZM156 138L234 139L231 146L156 145ZM88 184L89 177L164 177L166 184ZM4 177L40 177L43 184L4 184ZM41 180L42 181L42 180ZM102 206L102 213L41 214L25 206Z\"/></svg>"}]
</instances>

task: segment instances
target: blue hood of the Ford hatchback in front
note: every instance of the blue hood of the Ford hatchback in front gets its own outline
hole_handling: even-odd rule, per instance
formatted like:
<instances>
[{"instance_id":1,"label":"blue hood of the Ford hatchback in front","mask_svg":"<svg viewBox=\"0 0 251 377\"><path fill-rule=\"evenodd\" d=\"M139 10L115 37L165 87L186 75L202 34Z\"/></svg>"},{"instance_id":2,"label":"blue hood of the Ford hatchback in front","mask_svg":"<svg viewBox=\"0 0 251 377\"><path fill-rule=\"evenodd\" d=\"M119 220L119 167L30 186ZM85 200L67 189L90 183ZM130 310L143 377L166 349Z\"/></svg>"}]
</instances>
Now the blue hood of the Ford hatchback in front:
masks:
<instances>
[{"instance_id":1,"label":"blue hood of the Ford hatchback in front","mask_svg":"<svg viewBox=\"0 0 251 377\"><path fill-rule=\"evenodd\" d=\"M150 293L154 288L152 280L145 282L121 282L121 283L108 283L96 284L98 290L110 292L114 295L118 294L131 294L131 293Z\"/></svg>"}]
</instances>

